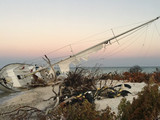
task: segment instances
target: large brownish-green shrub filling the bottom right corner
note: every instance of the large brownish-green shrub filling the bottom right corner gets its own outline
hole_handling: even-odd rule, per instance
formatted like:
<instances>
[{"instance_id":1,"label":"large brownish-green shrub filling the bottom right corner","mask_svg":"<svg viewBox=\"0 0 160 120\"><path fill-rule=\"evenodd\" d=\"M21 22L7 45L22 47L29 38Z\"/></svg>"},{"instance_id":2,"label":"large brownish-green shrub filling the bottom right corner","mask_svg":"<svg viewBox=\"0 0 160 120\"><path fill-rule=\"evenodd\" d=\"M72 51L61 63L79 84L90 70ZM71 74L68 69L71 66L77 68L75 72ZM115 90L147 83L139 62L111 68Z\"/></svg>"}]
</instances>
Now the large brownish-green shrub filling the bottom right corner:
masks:
<instances>
[{"instance_id":1,"label":"large brownish-green shrub filling the bottom right corner","mask_svg":"<svg viewBox=\"0 0 160 120\"><path fill-rule=\"evenodd\" d=\"M132 104L122 99L118 106L120 120L155 120L160 113L158 85L148 85L133 99Z\"/></svg>"}]
</instances>

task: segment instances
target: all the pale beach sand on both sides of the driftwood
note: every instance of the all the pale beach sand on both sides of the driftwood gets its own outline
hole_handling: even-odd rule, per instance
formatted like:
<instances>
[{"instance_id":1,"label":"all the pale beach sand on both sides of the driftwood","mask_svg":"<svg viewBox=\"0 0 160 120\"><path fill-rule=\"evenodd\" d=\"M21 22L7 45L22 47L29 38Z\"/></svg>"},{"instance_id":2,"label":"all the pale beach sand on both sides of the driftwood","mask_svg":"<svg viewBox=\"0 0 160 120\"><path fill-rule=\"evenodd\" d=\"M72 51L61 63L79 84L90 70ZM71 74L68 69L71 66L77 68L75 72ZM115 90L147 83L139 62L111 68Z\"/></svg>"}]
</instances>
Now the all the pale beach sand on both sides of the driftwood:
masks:
<instances>
[{"instance_id":1,"label":"all the pale beach sand on both sides of the driftwood","mask_svg":"<svg viewBox=\"0 0 160 120\"><path fill-rule=\"evenodd\" d=\"M120 84L116 83L116 84ZM126 96L126 99L132 101L134 97L137 97L137 93L142 90L145 86L145 83L127 83L132 86L131 89L125 88L126 90L130 91L132 94ZM54 90L58 91L58 85L55 86ZM21 106L31 106L36 107L40 110L45 110L47 107L51 106L54 102L53 99L48 101L44 101L50 97L54 96L52 92L52 86L47 87L37 87L28 91L25 91L24 94L17 95L9 100L4 101L0 105L0 112L9 112L19 108ZM117 98L105 98L102 100L95 100L96 109L102 110L105 109L107 106L111 107L112 111L117 113L117 107L123 97ZM0 120L7 119L6 116L0 116Z\"/></svg>"}]
</instances>

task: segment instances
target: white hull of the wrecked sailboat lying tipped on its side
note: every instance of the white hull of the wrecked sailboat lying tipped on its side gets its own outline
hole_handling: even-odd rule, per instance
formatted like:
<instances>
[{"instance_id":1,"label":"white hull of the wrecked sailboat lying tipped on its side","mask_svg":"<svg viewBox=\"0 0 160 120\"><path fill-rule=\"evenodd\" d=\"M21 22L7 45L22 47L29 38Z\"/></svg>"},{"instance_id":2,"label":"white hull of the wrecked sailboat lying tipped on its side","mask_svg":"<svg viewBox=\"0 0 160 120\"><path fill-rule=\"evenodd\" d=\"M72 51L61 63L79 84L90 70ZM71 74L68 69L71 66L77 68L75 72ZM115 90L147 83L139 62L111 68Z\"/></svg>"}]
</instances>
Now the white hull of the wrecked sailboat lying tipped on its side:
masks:
<instances>
[{"instance_id":1,"label":"white hull of the wrecked sailboat lying tipped on its side","mask_svg":"<svg viewBox=\"0 0 160 120\"><path fill-rule=\"evenodd\" d=\"M20 91L31 85L45 85L49 78L47 69L32 74L41 67L22 63L12 63L4 66L0 71L0 90L7 92ZM32 74L32 75L30 75Z\"/></svg>"}]
</instances>

